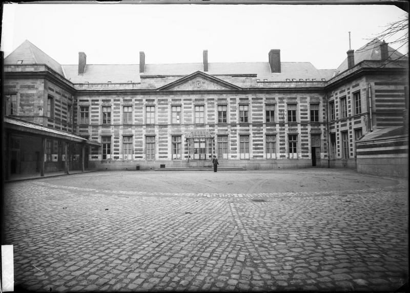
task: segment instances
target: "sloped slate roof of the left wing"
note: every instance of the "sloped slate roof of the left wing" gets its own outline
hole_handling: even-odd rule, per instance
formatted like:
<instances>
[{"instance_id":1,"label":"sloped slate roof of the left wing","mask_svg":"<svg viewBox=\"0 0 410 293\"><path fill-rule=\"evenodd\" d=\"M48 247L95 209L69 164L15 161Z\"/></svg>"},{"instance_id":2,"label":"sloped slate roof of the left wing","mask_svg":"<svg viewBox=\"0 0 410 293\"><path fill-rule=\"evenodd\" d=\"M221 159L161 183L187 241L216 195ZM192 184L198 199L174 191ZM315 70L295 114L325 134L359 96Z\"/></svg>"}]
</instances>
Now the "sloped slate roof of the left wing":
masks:
<instances>
[{"instance_id":1,"label":"sloped slate roof of the left wing","mask_svg":"<svg viewBox=\"0 0 410 293\"><path fill-rule=\"evenodd\" d=\"M23 64L46 64L54 71L64 76L61 65L49 55L38 49L29 40L25 40L5 59L5 65L17 64L18 60L23 60Z\"/></svg>"}]
</instances>

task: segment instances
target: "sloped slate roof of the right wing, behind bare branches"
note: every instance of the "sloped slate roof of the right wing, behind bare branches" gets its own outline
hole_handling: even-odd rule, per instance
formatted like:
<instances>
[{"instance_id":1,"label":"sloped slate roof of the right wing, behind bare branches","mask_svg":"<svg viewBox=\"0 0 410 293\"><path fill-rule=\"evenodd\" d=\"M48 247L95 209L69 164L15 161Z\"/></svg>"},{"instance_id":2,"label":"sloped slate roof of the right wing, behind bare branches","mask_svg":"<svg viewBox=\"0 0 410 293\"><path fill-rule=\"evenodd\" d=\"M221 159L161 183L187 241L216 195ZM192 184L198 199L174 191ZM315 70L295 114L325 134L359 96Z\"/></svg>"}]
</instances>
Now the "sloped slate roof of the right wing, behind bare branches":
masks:
<instances>
[{"instance_id":1,"label":"sloped slate roof of the right wing, behind bare branches","mask_svg":"<svg viewBox=\"0 0 410 293\"><path fill-rule=\"evenodd\" d=\"M378 38L371 40L369 43L364 45L363 47L355 50L355 64L363 60L381 60L381 53L380 53L380 45L383 42ZM392 47L388 46L388 56L391 59L397 59L399 57L404 56L400 52L396 51ZM342 64L335 70L335 75L347 70L347 57L344 59Z\"/></svg>"}]
</instances>

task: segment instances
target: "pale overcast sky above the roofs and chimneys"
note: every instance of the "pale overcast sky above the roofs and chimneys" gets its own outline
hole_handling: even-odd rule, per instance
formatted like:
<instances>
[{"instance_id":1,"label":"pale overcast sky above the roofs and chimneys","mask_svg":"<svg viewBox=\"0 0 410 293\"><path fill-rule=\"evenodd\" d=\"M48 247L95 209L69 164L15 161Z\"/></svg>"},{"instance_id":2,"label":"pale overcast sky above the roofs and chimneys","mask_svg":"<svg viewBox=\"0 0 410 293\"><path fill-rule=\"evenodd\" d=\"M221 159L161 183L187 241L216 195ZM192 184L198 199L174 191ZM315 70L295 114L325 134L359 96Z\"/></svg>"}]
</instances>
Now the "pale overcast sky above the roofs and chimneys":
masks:
<instances>
[{"instance_id":1,"label":"pale overcast sky above the roofs and chimneys","mask_svg":"<svg viewBox=\"0 0 410 293\"><path fill-rule=\"evenodd\" d=\"M358 49L406 12L393 5L84 5L5 4L2 51L24 40L60 64L309 61L337 68L349 49ZM388 40L386 39L388 42ZM394 46L393 46L394 47ZM408 48L401 48L406 53Z\"/></svg>"}]
</instances>

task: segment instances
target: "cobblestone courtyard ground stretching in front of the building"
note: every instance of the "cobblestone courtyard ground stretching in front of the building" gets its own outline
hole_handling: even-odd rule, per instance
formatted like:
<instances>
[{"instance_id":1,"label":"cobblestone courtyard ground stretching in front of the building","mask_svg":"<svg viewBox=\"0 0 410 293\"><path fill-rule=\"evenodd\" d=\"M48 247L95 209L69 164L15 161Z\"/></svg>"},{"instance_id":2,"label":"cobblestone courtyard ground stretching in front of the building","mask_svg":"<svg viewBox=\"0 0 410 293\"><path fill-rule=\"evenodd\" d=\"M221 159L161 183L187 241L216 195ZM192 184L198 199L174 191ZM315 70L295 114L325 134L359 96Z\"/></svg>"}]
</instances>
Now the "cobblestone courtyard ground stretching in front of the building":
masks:
<instances>
[{"instance_id":1,"label":"cobblestone courtyard ground stretching in front of the building","mask_svg":"<svg viewBox=\"0 0 410 293\"><path fill-rule=\"evenodd\" d=\"M15 285L395 291L407 183L350 170L94 172L5 185Z\"/></svg>"}]
</instances>

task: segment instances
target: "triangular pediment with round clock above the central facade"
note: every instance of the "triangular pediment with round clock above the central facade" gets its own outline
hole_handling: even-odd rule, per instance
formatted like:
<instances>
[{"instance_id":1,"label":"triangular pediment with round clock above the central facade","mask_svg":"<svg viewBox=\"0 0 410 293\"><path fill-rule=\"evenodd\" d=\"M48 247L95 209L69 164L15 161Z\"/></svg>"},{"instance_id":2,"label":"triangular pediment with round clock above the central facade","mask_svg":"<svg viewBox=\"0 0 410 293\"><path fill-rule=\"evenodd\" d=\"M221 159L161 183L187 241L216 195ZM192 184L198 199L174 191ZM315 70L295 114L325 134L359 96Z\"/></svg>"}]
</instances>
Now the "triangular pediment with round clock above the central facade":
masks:
<instances>
[{"instance_id":1,"label":"triangular pediment with round clock above the central facade","mask_svg":"<svg viewBox=\"0 0 410 293\"><path fill-rule=\"evenodd\" d=\"M202 71L177 79L158 91L215 91L215 90L240 90L241 88L230 82L224 81Z\"/></svg>"}]
</instances>

